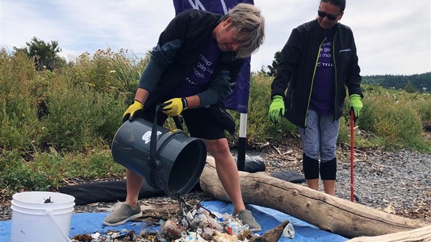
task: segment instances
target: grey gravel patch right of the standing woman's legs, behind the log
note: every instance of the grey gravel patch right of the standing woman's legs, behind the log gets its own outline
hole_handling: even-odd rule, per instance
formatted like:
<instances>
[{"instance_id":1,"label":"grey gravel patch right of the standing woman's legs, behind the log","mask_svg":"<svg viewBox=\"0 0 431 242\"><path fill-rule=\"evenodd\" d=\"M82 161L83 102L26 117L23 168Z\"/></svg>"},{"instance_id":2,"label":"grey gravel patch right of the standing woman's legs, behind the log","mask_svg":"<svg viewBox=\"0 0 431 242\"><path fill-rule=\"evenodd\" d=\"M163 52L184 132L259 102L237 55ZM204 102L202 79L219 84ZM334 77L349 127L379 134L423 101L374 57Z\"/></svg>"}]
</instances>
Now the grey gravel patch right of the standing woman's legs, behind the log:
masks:
<instances>
[{"instance_id":1,"label":"grey gravel patch right of the standing woman's legs, behind the log","mask_svg":"<svg viewBox=\"0 0 431 242\"><path fill-rule=\"evenodd\" d=\"M431 155L381 152L354 165L354 193L359 203L431 221ZM339 169L338 195L350 199L350 164ZM393 208L393 209L392 209Z\"/></svg>"}]
</instances>

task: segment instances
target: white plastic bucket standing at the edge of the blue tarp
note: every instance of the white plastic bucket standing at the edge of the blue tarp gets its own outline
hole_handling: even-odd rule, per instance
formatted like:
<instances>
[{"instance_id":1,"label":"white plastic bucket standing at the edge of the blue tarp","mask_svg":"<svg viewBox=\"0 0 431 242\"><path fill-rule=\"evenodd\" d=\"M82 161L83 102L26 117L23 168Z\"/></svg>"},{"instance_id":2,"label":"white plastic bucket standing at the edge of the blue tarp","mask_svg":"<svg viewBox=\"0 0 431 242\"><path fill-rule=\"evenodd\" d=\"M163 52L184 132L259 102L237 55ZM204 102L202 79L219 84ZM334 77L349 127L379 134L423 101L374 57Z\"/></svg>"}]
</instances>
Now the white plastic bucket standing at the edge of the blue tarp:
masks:
<instances>
[{"instance_id":1,"label":"white plastic bucket standing at the edge of the blue tarp","mask_svg":"<svg viewBox=\"0 0 431 242\"><path fill-rule=\"evenodd\" d=\"M70 220L75 197L63 193L30 191L15 193L12 198L11 242L70 241Z\"/></svg>"}]
</instances>

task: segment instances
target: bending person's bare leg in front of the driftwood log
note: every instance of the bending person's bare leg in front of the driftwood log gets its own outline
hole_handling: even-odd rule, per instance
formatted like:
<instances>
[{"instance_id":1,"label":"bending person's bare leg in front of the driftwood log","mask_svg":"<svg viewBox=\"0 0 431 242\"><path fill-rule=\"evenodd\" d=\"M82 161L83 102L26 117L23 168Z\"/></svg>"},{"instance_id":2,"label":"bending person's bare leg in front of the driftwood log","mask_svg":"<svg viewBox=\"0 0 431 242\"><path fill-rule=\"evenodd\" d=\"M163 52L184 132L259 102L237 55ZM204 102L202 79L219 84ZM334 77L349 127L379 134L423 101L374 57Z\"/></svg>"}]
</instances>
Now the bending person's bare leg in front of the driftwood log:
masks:
<instances>
[{"instance_id":1,"label":"bending person's bare leg in front of the driftwood log","mask_svg":"<svg viewBox=\"0 0 431 242\"><path fill-rule=\"evenodd\" d=\"M206 149L214 157L215 170L218 179L234 205L236 212L245 209L243 195L239 186L238 168L234 156L232 156L226 138L218 140L204 140Z\"/></svg>"}]
</instances>

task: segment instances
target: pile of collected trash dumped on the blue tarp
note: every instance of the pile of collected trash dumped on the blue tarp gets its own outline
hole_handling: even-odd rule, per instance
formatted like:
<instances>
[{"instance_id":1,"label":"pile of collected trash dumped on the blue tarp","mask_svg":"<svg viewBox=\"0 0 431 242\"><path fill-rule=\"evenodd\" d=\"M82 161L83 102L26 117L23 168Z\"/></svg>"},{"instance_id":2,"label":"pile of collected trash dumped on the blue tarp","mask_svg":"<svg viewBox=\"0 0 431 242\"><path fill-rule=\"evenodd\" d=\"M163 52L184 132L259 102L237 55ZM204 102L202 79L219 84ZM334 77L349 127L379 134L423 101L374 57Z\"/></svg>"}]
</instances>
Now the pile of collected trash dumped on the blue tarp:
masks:
<instances>
[{"instance_id":1,"label":"pile of collected trash dumped on the blue tarp","mask_svg":"<svg viewBox=\"0 0 431 242\"><path fill-rule=\"evenodd\" d=\"M72 242L191 242L191 241L215 241L215 242L236 242L236 241L277 241L283 234L293 238L295 232L288 220L274 228L279 230L278 234L274 229L265 234L253 234L248 225L243 225L241 220L229 213L217 213L209 211L200 203L192 206L184 200L180 200L180 209L177 214L172 214L168 220L159 220L150 227L144 228L139 234L133 230L106 234L90 234L72 237ZM160 226L161 229L154 229ZM266 234L270 234L273 239L262 240ZM267 235L268 236L268 235ZM277 238L275 238L277 237ZM260 240L257 240L257 239Z\"/></svg>"}]
</instances>

